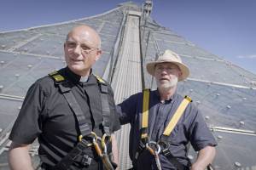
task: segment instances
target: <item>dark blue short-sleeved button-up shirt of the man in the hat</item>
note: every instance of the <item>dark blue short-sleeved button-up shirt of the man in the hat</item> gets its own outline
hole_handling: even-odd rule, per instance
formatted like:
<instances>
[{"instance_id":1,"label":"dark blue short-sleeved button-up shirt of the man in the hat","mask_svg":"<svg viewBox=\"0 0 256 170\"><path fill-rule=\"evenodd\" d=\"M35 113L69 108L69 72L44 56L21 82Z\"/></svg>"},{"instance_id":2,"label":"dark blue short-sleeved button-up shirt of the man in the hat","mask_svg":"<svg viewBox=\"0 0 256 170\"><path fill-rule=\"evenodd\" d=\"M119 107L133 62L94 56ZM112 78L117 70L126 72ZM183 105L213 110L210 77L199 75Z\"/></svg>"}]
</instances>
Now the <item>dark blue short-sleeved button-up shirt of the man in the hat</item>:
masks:
<instances>
[{"instance_id":1,"label":"dark blue short-sleeved button-up shirt of the man in the hat","mask_svg":"<svg viewBox=\"0 0 256 170\"><path fill-rule=\"evenodd\" d=\"M157 90L150 92L148 106L148 135L150 140L157 142L160 139L160 135L164 133L166 126L182 100L182 96L173 94L172 99L161 103L159 92ZM117 109L121 124L131 124L129 151L131 160L134 160L141 138L143 94L134 94L129 99L125 99L118 105ZM169 141L171 144L169 150L171 150L172 155L177 157L177 160L185 166L189 164L189 160L186 157L186 145L189 142L196 151L203 149L207 145L217 145L200 111L192 103L187 106L183 116L172 130ZM176 169L162 154L160 154L160 163L162 169ZM157 169L154 156L148 151L143 151L139 156L137 166L138 169Z\"/></svg>"}]
</instances>

